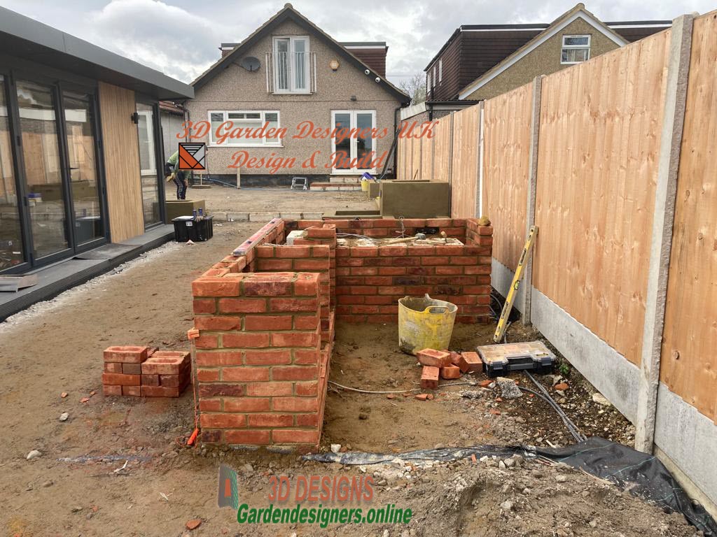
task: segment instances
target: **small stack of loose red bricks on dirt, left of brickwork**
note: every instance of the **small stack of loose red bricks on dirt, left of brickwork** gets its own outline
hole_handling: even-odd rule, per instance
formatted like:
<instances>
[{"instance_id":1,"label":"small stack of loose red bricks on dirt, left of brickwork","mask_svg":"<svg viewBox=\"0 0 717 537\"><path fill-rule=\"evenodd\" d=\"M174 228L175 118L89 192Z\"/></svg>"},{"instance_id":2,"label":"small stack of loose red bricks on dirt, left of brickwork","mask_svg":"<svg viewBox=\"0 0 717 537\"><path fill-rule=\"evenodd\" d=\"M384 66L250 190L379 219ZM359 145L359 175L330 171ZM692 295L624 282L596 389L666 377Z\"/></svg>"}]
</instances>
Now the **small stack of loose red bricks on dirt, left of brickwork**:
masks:
<instances>
[{"instance_id":1,"label":"small stack of loose red bricks on dirt, left of brickwork","mask_svg":"<svg viewBox=\"0 0 717 537\"><path fill-rule=\"evenodd\" d=\"M179 397L191 379L189 352L109 347L102 374L105 395Z\"/></svg>"}]
</instances>

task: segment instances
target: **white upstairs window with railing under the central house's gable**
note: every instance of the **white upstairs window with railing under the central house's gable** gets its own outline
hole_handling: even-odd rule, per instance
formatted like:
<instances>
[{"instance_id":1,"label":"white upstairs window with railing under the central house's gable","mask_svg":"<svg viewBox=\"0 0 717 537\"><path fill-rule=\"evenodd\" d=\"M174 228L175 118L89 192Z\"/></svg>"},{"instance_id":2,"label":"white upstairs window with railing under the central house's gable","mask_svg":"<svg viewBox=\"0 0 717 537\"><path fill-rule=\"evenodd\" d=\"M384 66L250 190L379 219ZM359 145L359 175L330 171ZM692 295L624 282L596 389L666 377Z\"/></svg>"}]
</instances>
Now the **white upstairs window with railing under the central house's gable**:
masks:
<instances>
[{"instance_id":1,"label":"white upstairs window with railing under the central house's gable","mask_svg":"<svg viewBox=\"0 0 717 537\"><path fill-rule=\"evenodd\" d=\"M275 93L310 92L308 37L275 37L272 56Z\"/></svg>"}]
</instances>

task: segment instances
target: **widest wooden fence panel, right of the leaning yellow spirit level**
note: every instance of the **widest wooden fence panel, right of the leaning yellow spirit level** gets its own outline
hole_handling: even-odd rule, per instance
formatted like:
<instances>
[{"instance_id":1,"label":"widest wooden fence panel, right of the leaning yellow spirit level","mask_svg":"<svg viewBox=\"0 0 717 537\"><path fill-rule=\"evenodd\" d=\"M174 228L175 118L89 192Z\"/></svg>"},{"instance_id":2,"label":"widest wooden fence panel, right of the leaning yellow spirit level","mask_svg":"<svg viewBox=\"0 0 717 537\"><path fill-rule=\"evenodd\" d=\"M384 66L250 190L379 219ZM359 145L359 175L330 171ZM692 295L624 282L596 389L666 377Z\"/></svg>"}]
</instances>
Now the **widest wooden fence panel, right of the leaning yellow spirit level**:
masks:
<instances>
[{"instance_id":1,"label":"widest wooden fence panel, right of the leaning yellow spirit level","mask_svg":"<svg viewBox=\"0 0 717 537\"><path fill-rule=\"evenodd\" d=\"M533 285L640 363L669 32L543 79Z\"/></svg>"}]
</instances>

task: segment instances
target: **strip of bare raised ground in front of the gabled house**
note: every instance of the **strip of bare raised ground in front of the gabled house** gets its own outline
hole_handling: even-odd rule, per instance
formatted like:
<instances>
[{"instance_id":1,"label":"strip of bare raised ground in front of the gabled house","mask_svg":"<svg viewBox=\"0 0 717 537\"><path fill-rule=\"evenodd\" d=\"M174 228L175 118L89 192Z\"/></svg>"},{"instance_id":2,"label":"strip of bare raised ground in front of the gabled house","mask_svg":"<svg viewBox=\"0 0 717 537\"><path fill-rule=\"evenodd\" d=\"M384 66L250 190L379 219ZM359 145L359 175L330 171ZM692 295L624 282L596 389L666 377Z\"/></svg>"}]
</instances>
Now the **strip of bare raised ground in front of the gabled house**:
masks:
<instances>
[{"instance_id":1,"label":"strip of bare raised ground in front of the gabled house","mask_svg":"<svg viewBox=\"0 0 717 537\"><path fill-rule=\"evenodd\" d=\"M171 183L174 185L174 183ZM176 197L174 186L166 187L166 198ZM206 208L214 212L233 213L324 213L339 209L376 209L376 202L365 192L323 192L320 190L290 190L289 188L232 188L214 185L212 188L189 188L188 200L204 199Z\"/></svg>"}]
</instances>

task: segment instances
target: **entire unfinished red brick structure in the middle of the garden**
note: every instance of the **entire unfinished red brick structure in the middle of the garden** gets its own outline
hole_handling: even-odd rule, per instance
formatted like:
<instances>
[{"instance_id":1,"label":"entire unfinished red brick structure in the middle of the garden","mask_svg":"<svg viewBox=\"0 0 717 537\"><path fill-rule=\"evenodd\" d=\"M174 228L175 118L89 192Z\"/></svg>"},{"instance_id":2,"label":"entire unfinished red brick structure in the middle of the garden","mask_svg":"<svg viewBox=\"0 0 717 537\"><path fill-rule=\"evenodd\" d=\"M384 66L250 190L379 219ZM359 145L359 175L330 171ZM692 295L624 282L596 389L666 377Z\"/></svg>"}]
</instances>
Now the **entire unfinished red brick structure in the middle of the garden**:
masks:
<instances>
[{"instance_id":1,"label":"entire unfinished red brick structure in the middle of the garden","mask_svg":"<svg viewBox=\"0 0 717 537\"><path fill-rule=\"evenodd\" d=\"M461 245L337 245L445 231ZM301 230L292 245L290 231ZM192 282L201 440L277 451L318 448L335 319L397 322L398 299L452 301L489 319L493 228L475 219L276 218Z\"/></svg>"}]
</instances>

